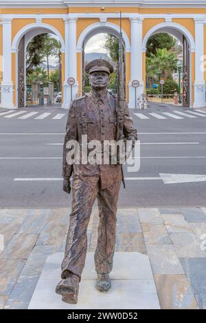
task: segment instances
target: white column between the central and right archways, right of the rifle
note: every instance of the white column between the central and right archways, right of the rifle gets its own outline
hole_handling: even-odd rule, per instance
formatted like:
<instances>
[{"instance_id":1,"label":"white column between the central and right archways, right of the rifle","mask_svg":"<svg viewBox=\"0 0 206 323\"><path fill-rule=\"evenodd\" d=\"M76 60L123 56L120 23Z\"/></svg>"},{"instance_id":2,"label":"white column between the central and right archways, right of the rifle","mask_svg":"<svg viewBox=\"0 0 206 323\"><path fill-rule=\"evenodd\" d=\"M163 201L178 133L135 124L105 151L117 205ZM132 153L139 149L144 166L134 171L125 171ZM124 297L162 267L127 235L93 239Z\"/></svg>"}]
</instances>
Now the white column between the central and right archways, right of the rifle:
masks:
<instances>
[{"instance_id":1,"label":"white column between the central and right archways, right of the rifle","mask_svg":"<svg viewBox=\"0 0 206 323\"><path fill-rule=\"evenodd\" d=\"M129 103L130 108L135 108L135 88L132 87L133 80L139 81L137 87L137 98L144 91L142 76L142 21L143 18L130 19L131 44L130 44L130 82L129 82Z\"/></svg>"}]
</instances>

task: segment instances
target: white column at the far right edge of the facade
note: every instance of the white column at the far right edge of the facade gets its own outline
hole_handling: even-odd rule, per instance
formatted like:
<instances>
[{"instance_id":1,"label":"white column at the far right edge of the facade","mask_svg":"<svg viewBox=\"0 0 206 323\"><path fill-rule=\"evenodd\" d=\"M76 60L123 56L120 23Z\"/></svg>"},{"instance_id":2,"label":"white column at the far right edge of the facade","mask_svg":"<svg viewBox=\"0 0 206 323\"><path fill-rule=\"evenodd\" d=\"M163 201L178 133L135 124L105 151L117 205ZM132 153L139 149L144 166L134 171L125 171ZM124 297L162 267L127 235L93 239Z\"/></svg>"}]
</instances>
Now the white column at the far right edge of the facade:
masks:
<instances>
[{"instance_id":1,"label":"white column at the far right edge of the facade","mask_svg":"<svg viewBox=\"0 0 206 323\"><path fill-rule=\"evenodd\" d=\"M195 21L195 80L194 80L194 108L205 107L204 80L204 19Z\"/></svg>"}]
</instances>

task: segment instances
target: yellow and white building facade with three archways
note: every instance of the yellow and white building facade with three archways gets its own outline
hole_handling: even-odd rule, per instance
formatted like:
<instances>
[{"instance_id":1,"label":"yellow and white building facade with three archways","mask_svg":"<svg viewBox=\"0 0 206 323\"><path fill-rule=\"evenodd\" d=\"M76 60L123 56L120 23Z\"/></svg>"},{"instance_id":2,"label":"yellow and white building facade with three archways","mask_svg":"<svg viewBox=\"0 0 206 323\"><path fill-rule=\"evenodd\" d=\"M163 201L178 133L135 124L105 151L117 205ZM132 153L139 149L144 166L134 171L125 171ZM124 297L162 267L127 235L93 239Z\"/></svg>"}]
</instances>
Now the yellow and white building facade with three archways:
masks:
<instances>
[{"instance_id":1,"label":"yellow and white building facade with three archways","mask_svg":"<svg viewBox=\"0 0 206 323\"><path fill-rule=\"evenodd\" d=\"M55 34L62 51L62 108L73 95L82 95L82 53L95 34L119 35L119 12L126 57L126 100L135 107L146 86L146 43L158 32L173 34L183 43L185 106L205 107L206 3L205 0L0 0L1 107L17 109L25 102L25 51L37 34Z\"/></svg>"}]
</instances>

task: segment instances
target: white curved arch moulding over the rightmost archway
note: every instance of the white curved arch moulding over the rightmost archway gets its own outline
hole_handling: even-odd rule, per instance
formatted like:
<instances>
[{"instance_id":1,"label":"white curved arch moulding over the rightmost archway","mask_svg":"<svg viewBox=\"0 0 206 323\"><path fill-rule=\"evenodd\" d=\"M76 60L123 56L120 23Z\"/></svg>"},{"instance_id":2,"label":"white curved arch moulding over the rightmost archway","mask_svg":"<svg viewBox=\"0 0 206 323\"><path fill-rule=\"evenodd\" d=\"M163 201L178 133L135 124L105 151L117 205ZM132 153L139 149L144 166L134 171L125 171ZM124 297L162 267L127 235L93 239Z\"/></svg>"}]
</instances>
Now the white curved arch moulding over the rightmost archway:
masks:
<instances>
[{"instance_id":1,"label":"white curved arch moulding over the rightmost archway","mask_svg":"<svg viewBox=\"0 0 206 323\"><path fill-rule=\"evenodd\" d=\"M183 27L183 25L180 25L179 23L172 23L172 22L158 23L147 32L146 36L144 36L144 40L142 43L142 47L144 51L146 50L147 41L150 38L150 36L152 36L152 34L155 34L155 32L157 32L159 29L162 29L163 27L167 27L167 28L170 27L171 29L178 30L179 32L181 32L187 38L187 41L189 42L189 45L190 45L191 52L195 51L194 38L192 34L189 32L189 30L187 30L187 28Z\"/></svg>"}]
</instances>

